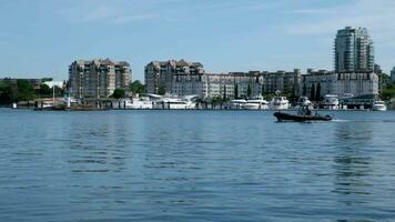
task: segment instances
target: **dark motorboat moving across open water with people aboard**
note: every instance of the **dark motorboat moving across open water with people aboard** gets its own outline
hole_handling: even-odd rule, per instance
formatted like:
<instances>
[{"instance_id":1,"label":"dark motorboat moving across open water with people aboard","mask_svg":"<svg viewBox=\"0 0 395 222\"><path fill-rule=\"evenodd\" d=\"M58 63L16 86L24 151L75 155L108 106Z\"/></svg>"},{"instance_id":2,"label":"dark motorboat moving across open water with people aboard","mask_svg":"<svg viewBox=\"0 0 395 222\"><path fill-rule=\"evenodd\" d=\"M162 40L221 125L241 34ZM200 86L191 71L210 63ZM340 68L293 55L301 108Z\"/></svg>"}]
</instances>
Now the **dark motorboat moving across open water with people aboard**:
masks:
<instances>
[{"instance_id":1,"label":"dark motorboat moving across open water with people aboard","mask_svg":"<svg viewBox=\"0 0 395 222\"><path fill-rule=\"evenodd\" d=\"M296 114L285 113L285 112L275 112L274 117L277 118L277 121L294 121L294 122L307 122L307 121L331 121L331 115L321 115L317 112L313 111L313 108L310 105L301 105Z\"/></svg>"}]
</instances>

